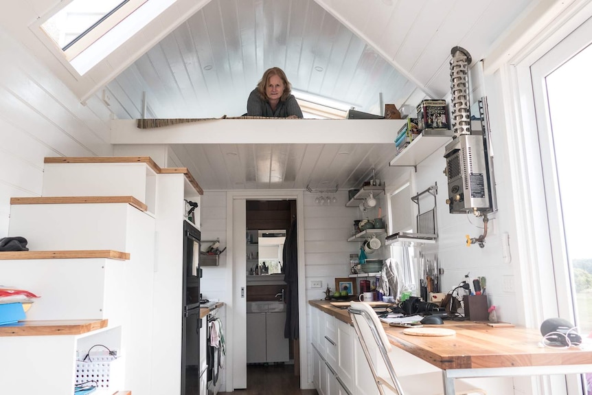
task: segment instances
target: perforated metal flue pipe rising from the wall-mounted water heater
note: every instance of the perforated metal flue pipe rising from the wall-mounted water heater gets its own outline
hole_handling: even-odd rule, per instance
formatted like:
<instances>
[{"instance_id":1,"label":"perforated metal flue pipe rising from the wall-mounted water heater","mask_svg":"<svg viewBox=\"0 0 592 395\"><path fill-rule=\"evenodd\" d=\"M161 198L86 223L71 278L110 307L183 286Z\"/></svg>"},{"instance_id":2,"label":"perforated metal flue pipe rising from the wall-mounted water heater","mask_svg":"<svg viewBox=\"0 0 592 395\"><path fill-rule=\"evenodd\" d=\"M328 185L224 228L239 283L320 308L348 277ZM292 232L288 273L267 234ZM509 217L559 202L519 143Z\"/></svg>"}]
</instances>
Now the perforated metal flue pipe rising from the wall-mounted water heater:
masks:
<instances>
[{"instance_id":1,"label":"perforated metal flue pipe rising from the wall-mounted water heater","mask_svg":"<svg viewBox=\"0 0 592 395\"><path fill-rule=\"evenodd\" d=\"M451 113L453 137L470 135L470 100L468 91L468 65L471 57L462 47L451 49Z\"/></svg>"}]
</instances>

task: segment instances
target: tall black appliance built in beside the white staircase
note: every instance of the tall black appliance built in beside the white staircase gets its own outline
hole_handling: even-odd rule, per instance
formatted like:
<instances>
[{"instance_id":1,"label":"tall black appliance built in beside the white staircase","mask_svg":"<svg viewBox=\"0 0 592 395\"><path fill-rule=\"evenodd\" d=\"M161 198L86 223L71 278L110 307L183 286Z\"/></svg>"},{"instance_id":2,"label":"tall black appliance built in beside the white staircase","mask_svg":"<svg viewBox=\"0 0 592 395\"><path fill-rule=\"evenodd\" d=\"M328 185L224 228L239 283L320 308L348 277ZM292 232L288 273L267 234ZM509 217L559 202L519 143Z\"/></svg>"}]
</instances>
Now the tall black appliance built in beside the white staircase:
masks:
<instances>
[{"instance_id":1,"label":"tall black appliance built in beside the white staircase","mask_svg":"<svg viewBox=\"0 0 592 395\"><path fill-rule=\"evenodd\" d=\"M188 358L190 354L199 355L199 339L201 319L199 318L200 279L199 252L201 232L189 221L183 221L183 311L181 341L181 395L207 395L199 393L201 368L198 363ZM203 350L205 352L205 350Z\"/></svg>"}]
</instances>

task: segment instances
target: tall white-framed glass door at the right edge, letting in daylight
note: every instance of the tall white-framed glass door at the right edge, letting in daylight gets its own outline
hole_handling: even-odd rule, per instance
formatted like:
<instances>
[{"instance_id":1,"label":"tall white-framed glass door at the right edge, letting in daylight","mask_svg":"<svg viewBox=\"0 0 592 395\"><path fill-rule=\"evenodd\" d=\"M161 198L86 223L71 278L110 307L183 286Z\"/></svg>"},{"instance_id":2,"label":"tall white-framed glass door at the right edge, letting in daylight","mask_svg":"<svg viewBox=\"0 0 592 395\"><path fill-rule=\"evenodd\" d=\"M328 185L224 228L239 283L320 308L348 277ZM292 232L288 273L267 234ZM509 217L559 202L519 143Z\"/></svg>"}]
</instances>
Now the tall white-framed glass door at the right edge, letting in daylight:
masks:
<instances>
[{"instance_id":1,"label":"tall white-framed glass door at the right edge, letting in daylight","mask_svg":"<svg viewBox=\"0 0 592 395\"><path fill-rule=\"evenodd\" d=\"M582 337L592 336L591 38L587 21L531 68L558 313ZM592 395L591 379L569 393Z\"/></svg>"}]
</instances>

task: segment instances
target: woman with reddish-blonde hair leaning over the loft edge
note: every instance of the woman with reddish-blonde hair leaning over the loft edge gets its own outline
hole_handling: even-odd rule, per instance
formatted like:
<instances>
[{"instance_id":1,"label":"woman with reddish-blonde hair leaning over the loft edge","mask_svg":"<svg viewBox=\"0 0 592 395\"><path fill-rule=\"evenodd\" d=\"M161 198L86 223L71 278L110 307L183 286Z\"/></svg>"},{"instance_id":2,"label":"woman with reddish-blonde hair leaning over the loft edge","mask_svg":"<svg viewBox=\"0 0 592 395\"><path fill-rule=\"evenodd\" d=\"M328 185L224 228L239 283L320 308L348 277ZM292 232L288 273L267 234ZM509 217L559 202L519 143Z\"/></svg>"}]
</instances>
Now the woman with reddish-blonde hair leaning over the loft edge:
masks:
<instances>
[{"instance_id":1,"label":"woman with reddish-blonde hair leaning over the loft edge","mask_svg":"<svg viewBox=\"0 0 592 395\"><path fill-rule=\"evenodd\" d=\"M280 67L271 67L247 100L247 115L253 117L302 118L292 85Z\"/></svg>"}]
</instances>

